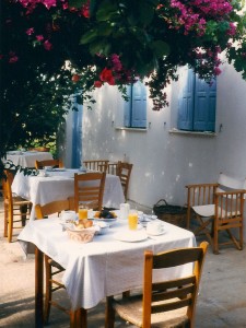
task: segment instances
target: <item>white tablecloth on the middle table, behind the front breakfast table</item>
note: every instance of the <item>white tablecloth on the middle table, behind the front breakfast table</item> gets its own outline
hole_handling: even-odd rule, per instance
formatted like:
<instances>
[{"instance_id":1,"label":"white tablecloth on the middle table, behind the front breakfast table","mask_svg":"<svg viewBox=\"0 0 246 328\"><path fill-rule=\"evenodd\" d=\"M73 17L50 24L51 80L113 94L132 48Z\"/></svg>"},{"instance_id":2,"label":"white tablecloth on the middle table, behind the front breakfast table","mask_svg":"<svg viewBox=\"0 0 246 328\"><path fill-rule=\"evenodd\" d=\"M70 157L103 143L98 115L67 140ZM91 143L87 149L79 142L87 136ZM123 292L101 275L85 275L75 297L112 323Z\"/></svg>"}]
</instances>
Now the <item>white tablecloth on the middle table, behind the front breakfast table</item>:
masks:
<instances>
[{"instance_id":1,"label":"white tablecloth on the middle table, behind the front breakfast table","mask_svg":"<svg viewBox=\"0 0 246 328\"><path fill-rule=\"evenodd\" d=\"M54 200L67 199L74 195L74 173L78 169L66 169L65 172L49 172L50 176L27 176L17 172L12 191L17 196L28 199L33 203L31 220L35 219L35 204L46 204ZM122 186L116 175L106 175L103 206L119 209L125 202Z\"/></svg>"}]
</instances>

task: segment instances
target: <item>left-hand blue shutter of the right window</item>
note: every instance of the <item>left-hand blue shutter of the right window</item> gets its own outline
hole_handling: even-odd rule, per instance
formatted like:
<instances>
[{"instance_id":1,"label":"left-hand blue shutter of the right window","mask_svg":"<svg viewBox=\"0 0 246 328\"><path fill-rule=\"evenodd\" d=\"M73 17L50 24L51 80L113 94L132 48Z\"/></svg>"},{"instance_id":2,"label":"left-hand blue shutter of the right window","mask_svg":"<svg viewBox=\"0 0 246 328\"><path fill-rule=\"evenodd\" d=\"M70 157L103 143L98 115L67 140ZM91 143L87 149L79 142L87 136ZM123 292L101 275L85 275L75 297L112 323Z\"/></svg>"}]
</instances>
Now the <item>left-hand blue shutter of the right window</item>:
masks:
<instances>
[{"instance_id":1,"label":"left-hand blue shutter of the right window","mask_svg":"<svg viewBox=\"0 0 246 328\"><path fill-rule=\"evenodd\" d=\"M180 77L183 84L178 103L177 128L180 130L192 130L194 126L194 87L195 74L191 69L186 68Z\"/></svg>"}]
</instances>

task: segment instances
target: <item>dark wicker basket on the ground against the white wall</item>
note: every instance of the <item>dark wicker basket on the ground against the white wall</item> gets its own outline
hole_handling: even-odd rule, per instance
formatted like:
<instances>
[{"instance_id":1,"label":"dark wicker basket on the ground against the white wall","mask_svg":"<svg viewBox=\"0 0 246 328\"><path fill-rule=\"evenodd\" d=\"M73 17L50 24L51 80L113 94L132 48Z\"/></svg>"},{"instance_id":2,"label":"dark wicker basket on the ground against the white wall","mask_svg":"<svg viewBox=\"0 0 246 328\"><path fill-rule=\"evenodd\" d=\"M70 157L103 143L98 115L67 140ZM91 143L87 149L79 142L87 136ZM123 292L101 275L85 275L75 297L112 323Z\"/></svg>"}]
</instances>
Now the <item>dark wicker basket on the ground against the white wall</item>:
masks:
<instances>
[{"instance_id":1,"label":"dark wicker basket on the ground against the white wall","mask_svg":"<svg viewBox=\"0 0 246 328\"><path fill-rule=\"evenodd\" d=\"M155 215L162 221L186 227L187 208L168 204L165 199L160 199L153 207Z\"/></svg>"}]
</instances>

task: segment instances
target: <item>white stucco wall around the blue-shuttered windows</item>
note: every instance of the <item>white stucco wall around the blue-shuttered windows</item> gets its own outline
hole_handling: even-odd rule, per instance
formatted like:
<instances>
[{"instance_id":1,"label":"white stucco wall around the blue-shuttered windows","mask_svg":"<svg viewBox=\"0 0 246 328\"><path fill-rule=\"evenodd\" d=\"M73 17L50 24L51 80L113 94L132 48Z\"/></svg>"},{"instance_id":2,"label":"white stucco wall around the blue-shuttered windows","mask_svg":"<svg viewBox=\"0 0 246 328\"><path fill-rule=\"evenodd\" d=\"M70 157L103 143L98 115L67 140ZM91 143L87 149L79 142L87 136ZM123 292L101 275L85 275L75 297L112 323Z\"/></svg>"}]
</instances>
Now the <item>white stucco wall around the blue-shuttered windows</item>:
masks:
<instances>
[{"instance_id":1,"label":"white stucco wall around the blue-shuttered windows","mask_svg":"<svg viewBox=\"0 0 246 328\"><path fill-rule=\"evenodd\" d=\"M149 207L161 198L184 204L186 184L214 181L220 172L246 176L246 83L241 74L226 65L218 79L215 137L169 132L176 127L178 83L168 90L168 108L153 112L149 101L147 131L117 129L122 99L116 87L96 90L93 110L84 106L83 159L133 163L129 198Z\"/></svg>"}]
</instances>

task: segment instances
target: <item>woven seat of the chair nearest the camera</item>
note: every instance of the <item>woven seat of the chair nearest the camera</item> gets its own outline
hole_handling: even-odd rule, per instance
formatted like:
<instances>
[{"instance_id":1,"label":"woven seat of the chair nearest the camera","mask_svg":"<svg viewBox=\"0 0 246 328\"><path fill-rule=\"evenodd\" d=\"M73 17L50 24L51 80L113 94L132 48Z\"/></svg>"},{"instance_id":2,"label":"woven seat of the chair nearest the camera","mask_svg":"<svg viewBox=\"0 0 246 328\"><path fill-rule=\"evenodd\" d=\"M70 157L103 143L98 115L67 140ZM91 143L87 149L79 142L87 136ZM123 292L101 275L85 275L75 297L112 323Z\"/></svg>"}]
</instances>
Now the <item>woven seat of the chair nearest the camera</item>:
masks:
<instances>
[{"instance_id":1,"label":"woven seat of the chair nearest the camera","mask_svg":"<svg viewBox=\"0 0 246 328\"><path fill-rule=\"evenodd\" d=\"M157 302L156 302L157 303ZM155 303L155 304L156 304ZM163 304L163 302L162 302ZM125 320L142 327L142 295L130 296L120 301L113 301L116 312ZM177 328L184 327L189 319L186 315L187 308L169 311L151 315L151 327L154 328Z\"/></svg>"}]
</instances>

